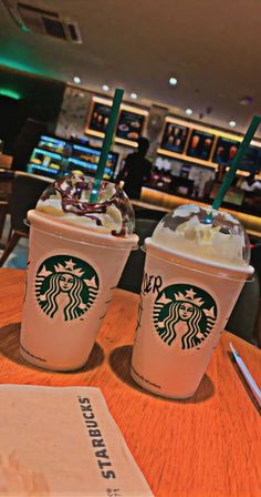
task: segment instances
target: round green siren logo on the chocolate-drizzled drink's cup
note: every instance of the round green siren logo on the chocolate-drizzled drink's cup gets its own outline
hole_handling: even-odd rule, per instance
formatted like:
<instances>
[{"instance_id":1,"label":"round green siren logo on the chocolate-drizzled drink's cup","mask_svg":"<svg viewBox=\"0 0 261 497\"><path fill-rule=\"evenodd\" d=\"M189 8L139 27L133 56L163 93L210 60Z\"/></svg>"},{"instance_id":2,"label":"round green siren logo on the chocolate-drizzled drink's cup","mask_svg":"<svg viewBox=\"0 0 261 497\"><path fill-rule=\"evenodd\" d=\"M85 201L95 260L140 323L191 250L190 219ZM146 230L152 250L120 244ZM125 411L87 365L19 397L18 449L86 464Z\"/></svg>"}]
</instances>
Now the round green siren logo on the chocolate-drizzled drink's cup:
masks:
<instances>
[{"instance_id":1,"label":"round green siren logo on the chocolate-drizzled drink's cup","mask_svg":"<svg viewBox=\"0 0 261 497\"><path fill-rule=\"evenodd\" d=\"M55 255L46 258L38 270L35 295L49 317L76 320L88 311L97 292L97 273L81 258Z\"/></svg>"}]
</instances>

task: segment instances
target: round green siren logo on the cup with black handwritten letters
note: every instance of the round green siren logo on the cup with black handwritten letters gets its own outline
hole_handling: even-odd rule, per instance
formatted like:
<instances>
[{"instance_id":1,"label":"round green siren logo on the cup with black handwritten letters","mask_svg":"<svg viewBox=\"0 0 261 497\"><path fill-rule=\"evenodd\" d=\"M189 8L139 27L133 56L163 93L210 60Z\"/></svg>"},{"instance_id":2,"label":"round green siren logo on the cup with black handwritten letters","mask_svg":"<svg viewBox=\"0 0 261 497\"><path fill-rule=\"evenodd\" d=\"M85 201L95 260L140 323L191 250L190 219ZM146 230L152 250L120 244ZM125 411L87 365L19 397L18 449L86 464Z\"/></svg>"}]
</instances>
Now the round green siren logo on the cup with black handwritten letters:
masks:
<instances>
[{"instance_id":1,"label":"round green siren logo on the cup with black handwritten letters","mask_svg":"<svg viewBox=\"0 0 261 497\"><path fill-rule=\"evenodd\" d=\"M217 305L203 290L185 284L159 292L154 304L154 325L167 344L192 348L203 342L217 321Z\"/></svg>"}]
</instances>

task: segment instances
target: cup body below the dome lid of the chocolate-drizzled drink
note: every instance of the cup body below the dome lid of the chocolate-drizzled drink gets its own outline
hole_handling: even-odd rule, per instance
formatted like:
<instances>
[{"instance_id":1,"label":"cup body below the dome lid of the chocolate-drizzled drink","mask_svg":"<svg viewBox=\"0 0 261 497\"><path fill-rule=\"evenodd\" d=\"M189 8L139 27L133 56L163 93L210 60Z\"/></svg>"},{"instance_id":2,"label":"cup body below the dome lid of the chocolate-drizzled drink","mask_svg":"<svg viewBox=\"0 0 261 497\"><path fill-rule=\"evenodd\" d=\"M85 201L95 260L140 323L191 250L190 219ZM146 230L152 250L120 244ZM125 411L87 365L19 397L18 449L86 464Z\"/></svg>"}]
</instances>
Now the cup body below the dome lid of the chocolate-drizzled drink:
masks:
<instances>
[{"instance_id":1,"label":"cup body below the dome lid of the chocolate-drizzled drink","mask_svg":"<svg viewBox=\"0 0 261 497\"><path fill-rule=\"evenodd\" d=\"M62 225L29 211L31 225L21 355L58 371L82 367L137 235Z\"/></svg>"}]
</instances>

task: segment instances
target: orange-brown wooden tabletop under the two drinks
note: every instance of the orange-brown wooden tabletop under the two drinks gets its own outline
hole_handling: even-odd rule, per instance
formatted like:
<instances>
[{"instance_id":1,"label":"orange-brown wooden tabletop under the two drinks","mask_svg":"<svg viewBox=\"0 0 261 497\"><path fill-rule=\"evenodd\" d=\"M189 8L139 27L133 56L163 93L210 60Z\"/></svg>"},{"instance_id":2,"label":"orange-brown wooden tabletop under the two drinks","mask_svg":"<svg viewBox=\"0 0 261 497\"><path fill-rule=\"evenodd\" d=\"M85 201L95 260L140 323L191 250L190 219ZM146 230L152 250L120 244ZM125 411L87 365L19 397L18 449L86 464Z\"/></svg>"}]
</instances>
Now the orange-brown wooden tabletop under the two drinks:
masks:
<instances>
[{"instance_id":1,"label":"orange-brown wooden tabletop under the two drinks","mask_svg":"<svg viewBox=\"0 0 261 497\"><path fill-rule=\"evenodd\" d=\"M129 376L138 295L116 290L87 365L36 369L19 355L24 272L0 270L0 383L98 386L155 496L259 497L260 416L229 342L257 381L261 352L225 332L194 398L168 400Z\"/></svg>"}]
</instances>

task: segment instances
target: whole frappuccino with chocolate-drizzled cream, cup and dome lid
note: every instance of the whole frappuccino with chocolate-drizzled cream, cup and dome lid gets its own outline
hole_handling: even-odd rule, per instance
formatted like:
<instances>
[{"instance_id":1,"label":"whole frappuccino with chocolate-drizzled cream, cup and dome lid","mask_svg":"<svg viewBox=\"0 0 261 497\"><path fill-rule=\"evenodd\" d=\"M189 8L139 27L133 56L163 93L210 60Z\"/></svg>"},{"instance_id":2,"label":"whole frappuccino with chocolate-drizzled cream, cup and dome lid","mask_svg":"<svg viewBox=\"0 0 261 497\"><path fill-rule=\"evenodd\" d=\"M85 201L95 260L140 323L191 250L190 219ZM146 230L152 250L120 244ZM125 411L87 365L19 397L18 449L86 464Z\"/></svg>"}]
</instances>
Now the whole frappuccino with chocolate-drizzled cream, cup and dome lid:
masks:
<instances>
[{"instance_id":1,"label":"whole frappuccino with chocolate-drizzled cream, cup and dome lid","mask_svg":"<svg viewBox=\"0 0 261 497\"><path fill-rule=\"evenodd\" d=\"M90 202L97 187L96 202ZM22 356L44 368L75 369L93 348L129 251L134 212L115 184L65 176L29 211L30 247Z\"/></svg>"}]
</instances>

